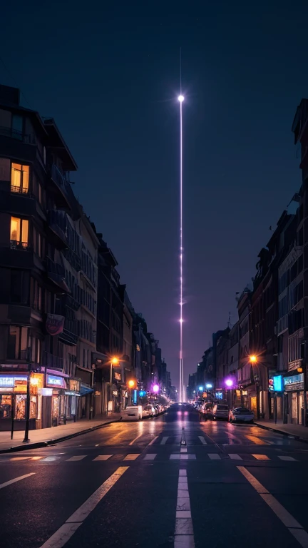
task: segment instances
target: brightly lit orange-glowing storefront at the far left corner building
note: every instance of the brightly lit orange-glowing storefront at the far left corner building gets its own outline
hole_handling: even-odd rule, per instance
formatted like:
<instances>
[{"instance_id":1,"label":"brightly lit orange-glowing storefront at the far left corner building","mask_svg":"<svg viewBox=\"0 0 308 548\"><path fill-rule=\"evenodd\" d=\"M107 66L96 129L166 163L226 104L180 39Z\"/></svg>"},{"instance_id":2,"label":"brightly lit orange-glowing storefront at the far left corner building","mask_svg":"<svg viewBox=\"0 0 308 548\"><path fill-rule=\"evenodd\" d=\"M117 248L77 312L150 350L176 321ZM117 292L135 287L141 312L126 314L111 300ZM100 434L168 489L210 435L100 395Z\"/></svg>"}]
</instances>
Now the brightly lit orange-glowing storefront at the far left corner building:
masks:
<instances>
[{"instance_id":1,"label":"brightly lit orange-glowing storefront at the far left corner building","mask_svg":"<svg viewBox=\"0 0 308 548\"><path fill-rule=\"evenodd\" d=\"M26 399L28 375L7 373L0 375L0 430L24 430L26 421ZM29 429L41 427L43 374L30 375L30 424Z\"/></svg>"}]
</instances>

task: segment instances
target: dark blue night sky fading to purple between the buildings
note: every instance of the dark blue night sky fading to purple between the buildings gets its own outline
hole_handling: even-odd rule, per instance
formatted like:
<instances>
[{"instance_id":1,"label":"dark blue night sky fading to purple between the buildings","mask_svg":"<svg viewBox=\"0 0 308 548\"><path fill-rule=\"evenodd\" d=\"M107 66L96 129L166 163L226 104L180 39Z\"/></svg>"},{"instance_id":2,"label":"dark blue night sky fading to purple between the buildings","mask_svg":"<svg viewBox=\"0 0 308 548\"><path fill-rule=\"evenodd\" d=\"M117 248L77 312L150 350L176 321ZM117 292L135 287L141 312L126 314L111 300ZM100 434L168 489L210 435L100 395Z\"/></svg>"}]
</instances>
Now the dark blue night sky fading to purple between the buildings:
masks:
<instances>
[{"instance_id":1,"label":"dark blue night sky fading to purple between the buildings","mask_svg":"<svg viewBox=\"0 0 308 548\"><path fill-rule=\"evenodd\" d=\"M180 46L186 379L229 311L235 323L235 292L299 189L291 126L308 96L308 5L200 2L192 16L166 2L158 16L104 4L4 3L0 81L55 118L76 195L178 383Z\"/></svg>"}]
</instances>

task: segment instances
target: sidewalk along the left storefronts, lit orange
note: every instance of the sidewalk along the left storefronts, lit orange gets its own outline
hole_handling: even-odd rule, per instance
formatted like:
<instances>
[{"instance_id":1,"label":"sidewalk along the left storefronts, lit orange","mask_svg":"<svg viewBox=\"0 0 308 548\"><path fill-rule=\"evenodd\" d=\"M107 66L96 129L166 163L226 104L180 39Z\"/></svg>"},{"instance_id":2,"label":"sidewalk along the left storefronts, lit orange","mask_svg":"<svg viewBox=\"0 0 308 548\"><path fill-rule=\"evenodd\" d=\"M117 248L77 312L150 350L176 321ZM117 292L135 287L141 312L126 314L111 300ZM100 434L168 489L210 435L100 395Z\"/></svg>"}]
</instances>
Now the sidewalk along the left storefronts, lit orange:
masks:
<instances>
[{"instance_id":1,"label":"sidewalk along the left storefronts, lit orange","mask_svg":"<svg viewBox=\"0 0 308 548\"><path fill-rule=\"evenodd\" d=\"M97 430L104 425L108 425L110 422L118 422L119 420L121 420L120 414L113 413L113 415L108 417L79 420L77 422L70 422L68 425L30 430L30 442L28 443L23 443L24 430L14 432L13 440L11 440L11 432L0 432L0 453L46 447L46 445L50 445L51 443L63 442L70 437L86 434L86 432Z\"/></svg>"}]
</instances>

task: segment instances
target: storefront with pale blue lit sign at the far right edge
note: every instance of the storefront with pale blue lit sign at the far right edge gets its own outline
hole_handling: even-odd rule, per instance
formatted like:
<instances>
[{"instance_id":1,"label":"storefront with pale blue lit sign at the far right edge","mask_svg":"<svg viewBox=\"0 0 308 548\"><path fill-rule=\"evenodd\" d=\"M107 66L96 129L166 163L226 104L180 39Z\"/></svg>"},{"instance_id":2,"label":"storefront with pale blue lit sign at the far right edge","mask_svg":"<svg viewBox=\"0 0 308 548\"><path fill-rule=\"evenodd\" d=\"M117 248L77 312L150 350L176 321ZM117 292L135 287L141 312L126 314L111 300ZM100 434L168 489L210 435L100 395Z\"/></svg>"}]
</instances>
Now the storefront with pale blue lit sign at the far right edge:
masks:
<instances>
[{"instance_id":1,"label":"storefront with pale blue lit sign at the far right edge","mask_svg":"<svg viewBox=\"0 0 308 548\"><path fill-rule=\"evenodd\" d=\"M304 424L304 374L284 377L284 391L287 393L287 422Z\"/></svg>"}]
</instances>

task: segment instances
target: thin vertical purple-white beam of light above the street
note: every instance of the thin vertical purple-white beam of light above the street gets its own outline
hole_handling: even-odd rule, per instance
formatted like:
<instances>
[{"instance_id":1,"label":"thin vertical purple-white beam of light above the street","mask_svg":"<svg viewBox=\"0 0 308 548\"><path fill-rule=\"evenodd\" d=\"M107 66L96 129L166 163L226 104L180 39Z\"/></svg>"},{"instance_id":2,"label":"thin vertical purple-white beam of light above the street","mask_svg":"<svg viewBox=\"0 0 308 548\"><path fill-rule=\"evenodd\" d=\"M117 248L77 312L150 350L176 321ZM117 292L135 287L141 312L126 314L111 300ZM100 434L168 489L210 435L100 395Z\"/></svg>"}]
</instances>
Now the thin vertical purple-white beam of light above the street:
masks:
<instances>
[{"instance_id":1,"label":"thin vertical purple-white beam of light above the street","mask_svg":"<svg viewBox=\"0 0 308 548\"><path fill-rule=\"evenodd\" d=\"M182 61L180 51L180 390L179 400L185 400L184 374L183 374L183 116L182 103Z\"/></svg>"}]
</instances>

